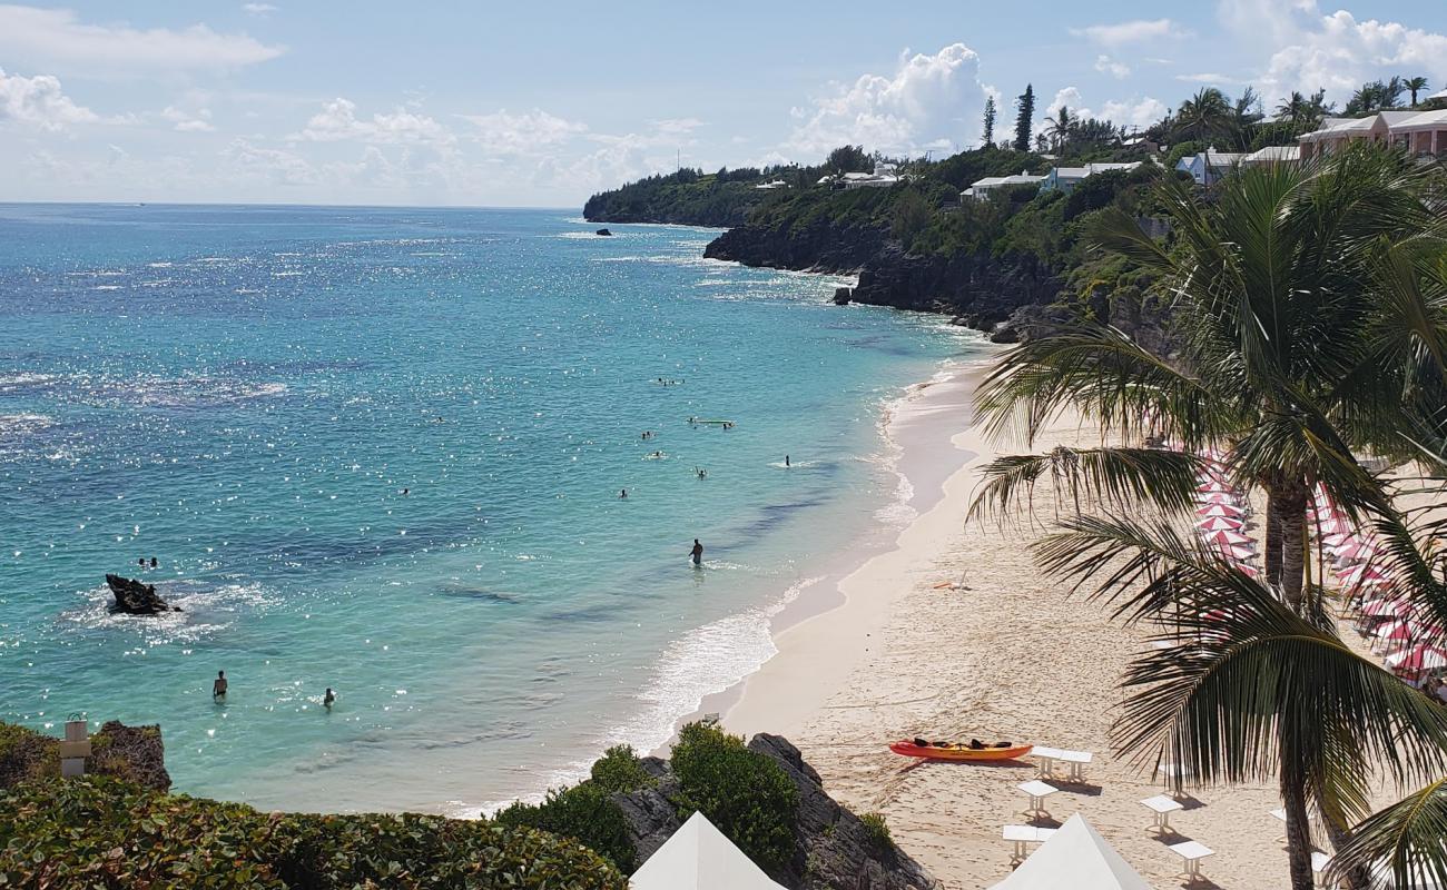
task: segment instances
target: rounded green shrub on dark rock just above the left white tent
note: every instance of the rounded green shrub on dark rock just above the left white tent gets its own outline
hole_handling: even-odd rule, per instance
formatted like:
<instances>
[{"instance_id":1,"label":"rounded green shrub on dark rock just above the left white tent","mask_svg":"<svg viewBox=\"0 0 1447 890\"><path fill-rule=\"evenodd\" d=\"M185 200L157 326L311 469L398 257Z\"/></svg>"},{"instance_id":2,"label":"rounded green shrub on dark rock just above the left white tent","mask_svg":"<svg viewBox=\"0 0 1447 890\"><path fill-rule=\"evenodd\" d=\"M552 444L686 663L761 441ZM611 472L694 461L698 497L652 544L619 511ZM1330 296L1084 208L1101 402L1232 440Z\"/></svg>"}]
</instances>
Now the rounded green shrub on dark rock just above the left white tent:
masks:
<instances>
[{"instance_id":1,"label":"rounded green shrub on dark rock just above the left white tent","mask_svg":"<svg viewBox=\"0 0 1447 890\"><path fill-rule=\"evenodd\" d=\"M682 818L702 812L764 868L789 860L799 789L777 763L750 751L742 738L705 724L679 731L671 763L682 790Z\"/></svg>"}]
</instances>

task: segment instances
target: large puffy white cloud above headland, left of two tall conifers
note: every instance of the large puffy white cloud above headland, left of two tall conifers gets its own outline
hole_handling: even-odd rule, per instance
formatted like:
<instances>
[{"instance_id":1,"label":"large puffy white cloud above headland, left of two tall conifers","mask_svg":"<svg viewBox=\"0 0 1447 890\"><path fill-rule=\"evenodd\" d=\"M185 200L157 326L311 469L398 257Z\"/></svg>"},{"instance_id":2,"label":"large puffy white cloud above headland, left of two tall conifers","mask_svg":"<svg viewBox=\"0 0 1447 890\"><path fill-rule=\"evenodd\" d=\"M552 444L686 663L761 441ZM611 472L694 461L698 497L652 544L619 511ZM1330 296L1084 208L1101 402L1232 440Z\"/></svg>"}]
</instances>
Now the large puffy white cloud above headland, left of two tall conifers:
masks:
<instances>
[{"instance_id":1,"label":"large puffy white cloud above headland, left of two tall conifers","mask_svg":"<svg viewBox=\"0 0 1447 890\"><path fill-rule=\"evenodd\" d=\"M786 148L819 156L844 143L890 153L917 152L925 145L967 142L980 133L985 91L980 56L964 43L935 55L900 56L890 77L865 74L836 85L809 109L794 109L797 122Z\"/></svg>"}]
</instances>

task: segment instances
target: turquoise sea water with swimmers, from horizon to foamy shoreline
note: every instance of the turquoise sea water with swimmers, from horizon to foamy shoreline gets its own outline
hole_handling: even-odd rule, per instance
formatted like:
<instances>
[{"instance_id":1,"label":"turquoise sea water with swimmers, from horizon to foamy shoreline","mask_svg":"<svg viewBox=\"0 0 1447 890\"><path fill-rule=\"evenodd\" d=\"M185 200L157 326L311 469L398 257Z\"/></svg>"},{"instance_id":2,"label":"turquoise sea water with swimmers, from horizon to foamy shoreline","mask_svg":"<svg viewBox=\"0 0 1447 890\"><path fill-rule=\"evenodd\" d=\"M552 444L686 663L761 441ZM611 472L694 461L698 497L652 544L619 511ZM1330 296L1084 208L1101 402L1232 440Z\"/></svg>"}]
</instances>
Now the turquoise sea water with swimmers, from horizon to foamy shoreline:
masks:
<instances>
[{"instance_id":1,"label":"turquoise sea water with swimmers, from horizon to foamy shoreline","mask_svg":"<svg viewBox=\"0 0 1447 890\"><path fill-rule=\"evenodd\" d=\"M968 344L590 232L0 205L0 718L159 722L190 793L470 810L755 667L897 498L883 405ZM184 611L111 616L106 572Z\"/></svg>"}]
</instances>

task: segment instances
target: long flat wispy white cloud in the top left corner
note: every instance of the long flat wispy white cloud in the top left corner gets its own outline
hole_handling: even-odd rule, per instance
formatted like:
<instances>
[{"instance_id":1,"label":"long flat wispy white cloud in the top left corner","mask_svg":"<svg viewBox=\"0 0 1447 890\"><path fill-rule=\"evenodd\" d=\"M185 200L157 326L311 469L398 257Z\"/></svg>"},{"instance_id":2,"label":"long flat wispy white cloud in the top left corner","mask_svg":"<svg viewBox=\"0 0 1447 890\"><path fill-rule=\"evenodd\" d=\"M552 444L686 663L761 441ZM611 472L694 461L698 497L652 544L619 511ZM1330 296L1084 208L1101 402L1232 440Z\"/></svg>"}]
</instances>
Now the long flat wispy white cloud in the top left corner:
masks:
<instances>
[{"instance_id":1,"label":"long flat wispy white cloud in the top left corner","mask_svg":"<svg viewBox=\"0 0 1447 890\"><path fill-rule=\"evenodd\" d=\"M87 25L68 9L0 4L0 52L58 71L97 72L230 69L273 59L282 48L205 25L140 30Z\"/></svg>"}]
</instances>

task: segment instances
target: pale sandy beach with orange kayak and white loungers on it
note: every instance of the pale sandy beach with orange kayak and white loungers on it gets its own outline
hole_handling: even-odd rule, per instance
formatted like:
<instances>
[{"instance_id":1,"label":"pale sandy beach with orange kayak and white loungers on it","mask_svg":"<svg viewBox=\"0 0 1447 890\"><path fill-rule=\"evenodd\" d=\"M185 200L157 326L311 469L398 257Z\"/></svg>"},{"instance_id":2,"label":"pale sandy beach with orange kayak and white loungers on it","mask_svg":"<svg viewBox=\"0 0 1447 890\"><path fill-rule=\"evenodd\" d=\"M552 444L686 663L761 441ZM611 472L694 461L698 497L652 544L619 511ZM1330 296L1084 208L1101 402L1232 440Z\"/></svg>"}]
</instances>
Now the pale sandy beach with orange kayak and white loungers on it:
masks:
<instances>
[{"instance_id":1,"label":"pale sandy beach with orange kayak and white loungers on it","mask_svg":"<svg viewBox=\"0 0 1447 890\"><path fill-rule=\"evenodd\" d=\"M1051 815L1064 822L1084 813L1155 887L1182 886L1182 860L1147 834L1152 815L1139 803L1162 790L1153 764L1114 755L1108 741L1117 682L1145 648L1146 631L1113 624L1100 605L1049 583L1027 550L1037 527L965 527L978 467L996 450L959 408L975 375L938 383L891 421L916 424L916 438L954 443L933 457L951 462L943 496L893 550L839 583L844 605L777 632L778 654L732 696L724 724L790 738L831 793L857 812L886 813L900 847L949 890L990 887L1009 874L1001 826L1026 822L1016 786L1035 770L915 764L887 742L975 737L1092 751L1087 783L1049 797ZM1091 437L1061 423L1037 450ZM903 457L907 476L942 475L912 463L929 449L913 452L906 447ZM1049 495L1037 496L1048 511ZM936 589L961 579L967 589ZM1202 867L1211 883L1195 886L1283 886L1282 823L1269 815L1279 806L1275 789L1213 787L1197 796L1174 815L1179 834L1168 838L1215 851Z\"/></svg>"}]
</instances>

